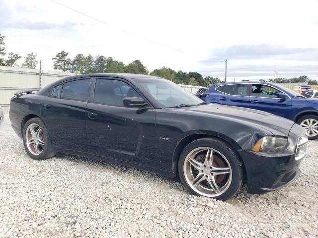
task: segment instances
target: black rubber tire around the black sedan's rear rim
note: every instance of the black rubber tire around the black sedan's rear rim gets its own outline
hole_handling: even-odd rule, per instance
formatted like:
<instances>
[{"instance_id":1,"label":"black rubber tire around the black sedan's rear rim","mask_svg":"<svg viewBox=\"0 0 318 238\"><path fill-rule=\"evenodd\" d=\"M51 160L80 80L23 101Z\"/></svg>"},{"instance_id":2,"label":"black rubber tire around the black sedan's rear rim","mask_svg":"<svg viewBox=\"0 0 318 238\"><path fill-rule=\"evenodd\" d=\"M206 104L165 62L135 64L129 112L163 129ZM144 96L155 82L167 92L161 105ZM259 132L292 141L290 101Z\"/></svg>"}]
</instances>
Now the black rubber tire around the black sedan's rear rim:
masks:
<instances>
[{"instance_id":1,"label":"black rubber tire around the black sedan's rear rim","mask_svg":"<svg viewBox=\"0 0 318 238\"><path fill-rule=\"evenodd\" d=\"M41 127L42 131L41 131L41 136L43 137L43 141L44 141L44 146L41 147L42 151L39 155L35 155L33 154L30 149L27 146L27 142L26 142L26 131L29 125L31 124L37 124ZM34 160L45 160L48 159L52 156L54 156L56 153L52 150L52 144L51 144L51 140L50 140L50 136L49 136L49 132L46 128L46 126L44 125L44 123L42 122L41 119L39 118L32 118L29 119L24 127L23 127L23 145L24 145L24 149L26 150L26 152L28 153L28 155L34 159Z\"/></svg>"}]
</instances>

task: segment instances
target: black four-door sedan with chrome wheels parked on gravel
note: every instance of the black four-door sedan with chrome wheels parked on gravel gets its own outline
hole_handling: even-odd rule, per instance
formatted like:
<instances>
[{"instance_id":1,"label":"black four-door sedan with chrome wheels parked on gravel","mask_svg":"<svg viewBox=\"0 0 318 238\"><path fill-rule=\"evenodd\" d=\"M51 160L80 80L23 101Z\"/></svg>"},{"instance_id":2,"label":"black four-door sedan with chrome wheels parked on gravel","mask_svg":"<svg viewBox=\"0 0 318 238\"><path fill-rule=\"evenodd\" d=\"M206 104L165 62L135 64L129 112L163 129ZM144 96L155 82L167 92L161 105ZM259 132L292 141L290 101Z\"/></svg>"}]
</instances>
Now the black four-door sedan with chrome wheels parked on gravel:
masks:
<instances>
[{"instance_id":1,"label":"black four-door sedan with chrome wheels parked on gravel","mask_svg":"<svg viewBox=\"0 0 318 238\"><path fill-rule=\"evenodd\" d=\"M243 182L252 193L287 185L306 156L306 131L293 121L207 104L149 75L64 78L16 93L9 116L33 159L63 152L179 174L193 194L221 200Z\"/></svg>"}]
</instances>

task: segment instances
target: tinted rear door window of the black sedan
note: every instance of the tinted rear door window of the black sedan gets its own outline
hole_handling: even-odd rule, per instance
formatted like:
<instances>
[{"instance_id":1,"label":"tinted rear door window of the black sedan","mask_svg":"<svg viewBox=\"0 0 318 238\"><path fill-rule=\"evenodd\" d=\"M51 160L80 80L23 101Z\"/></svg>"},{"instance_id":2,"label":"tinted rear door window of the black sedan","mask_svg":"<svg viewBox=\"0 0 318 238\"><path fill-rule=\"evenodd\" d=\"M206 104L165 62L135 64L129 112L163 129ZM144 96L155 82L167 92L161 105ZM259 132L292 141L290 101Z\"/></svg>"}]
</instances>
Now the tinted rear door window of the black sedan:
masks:
<instances>
[{"instance_id":1,"label":"tinted rear door window of the black sedan","mask_svg":"<svg viewBox=\"0 0 318 238\"><path fill-rule=\"evenodd\" d=\"M80 79L64 83L61 98L88 100L88 88L90 79Z\"/></svg>"}]
</instances>

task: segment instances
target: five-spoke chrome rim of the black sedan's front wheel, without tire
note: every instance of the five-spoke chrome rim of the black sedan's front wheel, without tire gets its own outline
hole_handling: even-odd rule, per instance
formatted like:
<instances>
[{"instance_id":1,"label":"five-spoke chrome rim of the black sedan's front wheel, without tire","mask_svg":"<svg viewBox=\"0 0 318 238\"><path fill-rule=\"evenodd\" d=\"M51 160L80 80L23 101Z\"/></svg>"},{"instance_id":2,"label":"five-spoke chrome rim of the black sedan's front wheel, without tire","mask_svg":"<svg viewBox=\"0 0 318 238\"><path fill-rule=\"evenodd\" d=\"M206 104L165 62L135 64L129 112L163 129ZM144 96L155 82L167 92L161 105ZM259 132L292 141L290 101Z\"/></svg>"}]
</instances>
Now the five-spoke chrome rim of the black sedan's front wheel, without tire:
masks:
<instances>
[{"instance_id":1,"label":"five-spoke chrome rim of the black sedan's front wheel, without tire","mask_svg":"<svg viewBox=\"0 0 318 238\"><path fill-rule=\"evenodd\" d=\"M225 193L232 181L228 159L210 147L192 150L185 158L183 171L189 186L206 197L217 197Z\"/></svg>"}]
</instances>

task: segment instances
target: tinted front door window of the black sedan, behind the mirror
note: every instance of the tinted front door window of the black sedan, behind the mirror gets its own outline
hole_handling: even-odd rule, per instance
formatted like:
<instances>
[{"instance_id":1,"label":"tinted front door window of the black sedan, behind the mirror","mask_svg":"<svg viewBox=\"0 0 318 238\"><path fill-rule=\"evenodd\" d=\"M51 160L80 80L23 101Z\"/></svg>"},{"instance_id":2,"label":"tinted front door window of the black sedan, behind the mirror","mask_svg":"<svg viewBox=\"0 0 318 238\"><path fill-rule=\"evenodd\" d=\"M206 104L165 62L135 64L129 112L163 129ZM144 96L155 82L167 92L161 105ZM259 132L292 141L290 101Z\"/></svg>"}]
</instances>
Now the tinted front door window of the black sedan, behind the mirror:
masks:
<instances>
[{"instance_id":1,"label":"tinted front door window of the black sedan, behind the mirror","mask_svg":"<svg viewBox=\"0 0 318 238\"><path fill-rule=\"evenodd\" d=\"M125 97L140 97L140 95L125 82L111 79L96 80L94 92L95 103L123 107Z\"/></svg>"}]
</instances>

